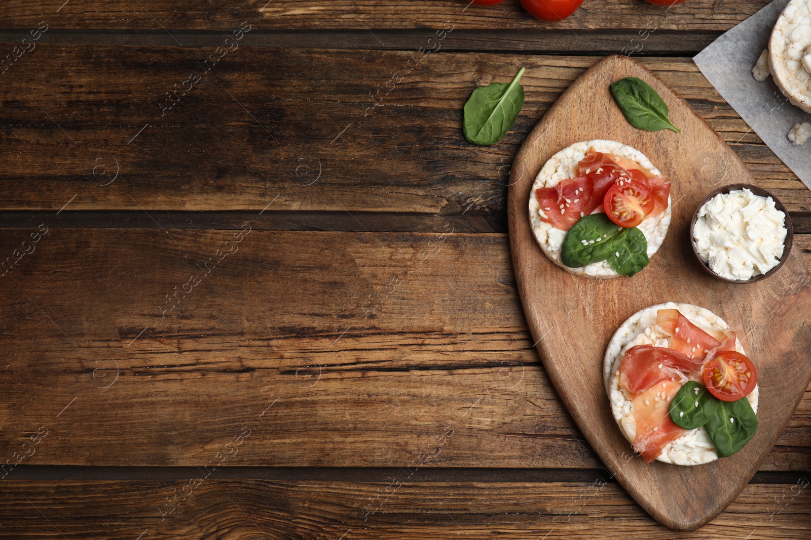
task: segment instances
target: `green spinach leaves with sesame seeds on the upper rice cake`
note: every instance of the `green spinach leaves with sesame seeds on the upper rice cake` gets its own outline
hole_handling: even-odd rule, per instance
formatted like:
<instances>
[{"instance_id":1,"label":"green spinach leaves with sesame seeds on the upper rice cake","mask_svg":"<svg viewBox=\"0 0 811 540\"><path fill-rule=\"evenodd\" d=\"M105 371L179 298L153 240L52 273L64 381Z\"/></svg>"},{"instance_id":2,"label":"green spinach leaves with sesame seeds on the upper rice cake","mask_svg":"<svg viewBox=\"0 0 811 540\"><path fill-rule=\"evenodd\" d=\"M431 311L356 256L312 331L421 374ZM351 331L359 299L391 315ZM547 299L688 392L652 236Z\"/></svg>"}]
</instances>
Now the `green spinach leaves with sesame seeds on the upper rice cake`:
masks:
<instances>
[{"instance_id":1,"label":"green spinach leaves with sesame seeds on the upper rice cake","mask_svg":"<svg viewBox=\"0 0 811 540\"><path fill-rule=\"evenodd\" d=\"M580 268L607 260L617 274L632 276L650 262L647 251L648 242L637 227L619 227L603 213L591 214L578 219L566 233L560 261Z\"/></svg>"}]
</instances>

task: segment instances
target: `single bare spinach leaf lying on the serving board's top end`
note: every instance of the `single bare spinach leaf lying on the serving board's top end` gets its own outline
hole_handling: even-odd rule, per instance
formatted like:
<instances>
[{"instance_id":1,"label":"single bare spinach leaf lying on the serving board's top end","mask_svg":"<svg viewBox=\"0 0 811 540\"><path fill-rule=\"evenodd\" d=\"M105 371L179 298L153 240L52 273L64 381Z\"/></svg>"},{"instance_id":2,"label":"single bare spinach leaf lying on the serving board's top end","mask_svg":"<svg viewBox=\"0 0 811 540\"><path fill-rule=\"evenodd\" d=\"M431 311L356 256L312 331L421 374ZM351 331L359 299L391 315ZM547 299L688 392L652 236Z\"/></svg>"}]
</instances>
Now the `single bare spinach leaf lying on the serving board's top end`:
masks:
<instances>
[{"instance_id":1,"label":"single bare spinach leaf lying on the serving board's top end","mask_svg":"<svg viewBox=\"0 0 811 540\"><path fill-rule=\"evenodd\" d=\"M661 96L642 79L625 77L611 84L611 94L620 106L625 119L633 127L646 131L667 128L679 133L679 128L667 117L667 104Z\"/></svg>"}]
</instances>

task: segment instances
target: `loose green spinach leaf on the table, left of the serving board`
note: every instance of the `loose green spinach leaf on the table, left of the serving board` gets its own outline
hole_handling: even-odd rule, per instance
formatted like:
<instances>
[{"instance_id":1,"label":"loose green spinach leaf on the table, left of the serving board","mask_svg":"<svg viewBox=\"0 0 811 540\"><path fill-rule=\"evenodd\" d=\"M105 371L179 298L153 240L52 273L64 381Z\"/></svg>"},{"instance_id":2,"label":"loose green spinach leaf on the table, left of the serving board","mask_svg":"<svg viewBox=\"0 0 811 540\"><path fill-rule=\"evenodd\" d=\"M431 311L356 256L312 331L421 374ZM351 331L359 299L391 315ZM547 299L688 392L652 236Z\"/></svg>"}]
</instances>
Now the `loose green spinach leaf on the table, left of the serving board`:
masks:
<instances>
[{"instance_id":1,"label":"loose green spinach leaf on the table, left of the serving board","mask_svg":"<svg viewBox=\"0 0 811 540\"><path fill-rule=\"evenodd\" d=\"M522 67L512 83L491 83L473 91L465 104L462 122L465 138L481 147L489 147L513 127L524 106L524 88L518 84L526 71Z\"/></svg>"}]
</instances>

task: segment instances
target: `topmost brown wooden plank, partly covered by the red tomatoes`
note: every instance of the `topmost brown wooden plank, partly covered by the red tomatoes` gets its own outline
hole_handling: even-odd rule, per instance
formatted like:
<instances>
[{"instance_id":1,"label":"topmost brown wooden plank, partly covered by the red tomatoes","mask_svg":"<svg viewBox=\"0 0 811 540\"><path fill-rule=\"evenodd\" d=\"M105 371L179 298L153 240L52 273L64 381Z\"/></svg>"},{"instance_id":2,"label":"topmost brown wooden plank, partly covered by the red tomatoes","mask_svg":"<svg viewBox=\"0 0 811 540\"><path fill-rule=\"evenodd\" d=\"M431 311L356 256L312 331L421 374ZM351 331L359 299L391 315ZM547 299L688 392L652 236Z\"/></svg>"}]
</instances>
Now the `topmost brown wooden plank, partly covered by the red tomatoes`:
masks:
<instances>
[{"instance_id":1,"label":"topmost brown wooden plank, partly covered by the red tomatoes","mask_svg":"<svg viewBox=\"0 0 811 540\"><path fill-rule=\"evenodd\" d=\"M560 23L532 18L518 4L507 0L495 7L467 6L463 0L411 0L404 5L380 0L251 0L234 6L228 2L169 2L149 0L110 6L103 0L60 2L15 0L3 2L0 19L6 28L32 28L48 20L54 28L137 28L144 30L221 30L249 21L255 28L442 28L450 21L458 28L589 29L659 28L684 31L726 31L766 5L747 2L694 0L665 10L643 2L586 0L580 10Z\"/></svg>"}]
</instances>

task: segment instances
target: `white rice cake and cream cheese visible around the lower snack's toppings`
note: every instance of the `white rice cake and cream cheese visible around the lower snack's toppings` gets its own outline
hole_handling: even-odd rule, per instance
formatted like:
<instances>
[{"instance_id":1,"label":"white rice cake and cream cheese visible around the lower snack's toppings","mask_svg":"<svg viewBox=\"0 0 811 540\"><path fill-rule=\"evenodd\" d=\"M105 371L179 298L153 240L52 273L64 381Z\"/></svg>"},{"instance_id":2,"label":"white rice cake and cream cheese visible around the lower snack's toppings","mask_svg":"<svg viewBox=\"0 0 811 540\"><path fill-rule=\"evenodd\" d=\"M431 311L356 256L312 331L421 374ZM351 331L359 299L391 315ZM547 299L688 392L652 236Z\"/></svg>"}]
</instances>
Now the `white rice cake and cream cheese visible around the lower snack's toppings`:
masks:
<instances>
[{"instance_id":1,"label":"white rice cake and cream cheese visible around the lower snack's toppings","mask_svg":"<svg viewBox=\"0 0 811 540\"><path fill-rule=\"evenodd\" d=\"M693 304L667 302L634 313L625 321L611 338L603 360L603 381L605 381L608 399L611 402L611 414L620 427L620 432L633 443L636 436L636 422L633 415L633 401L628 393L620 387L619 368L625 351L637 345L667 347L667 336L656 325L656 313L659 309L678 309L694 325L706 329L727 330L729 326L721 317L709 309ZM736 338L736 351L745 354ZM684 382L680 381L680 382ZM760 389L755 386L747 396L749 404L757 413L757 398ZM700 465L718 459L715 447L703 427L691 429L676 440L667 443L657 461L674 465Z\"/></svg>"}]
</instances>

